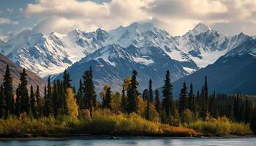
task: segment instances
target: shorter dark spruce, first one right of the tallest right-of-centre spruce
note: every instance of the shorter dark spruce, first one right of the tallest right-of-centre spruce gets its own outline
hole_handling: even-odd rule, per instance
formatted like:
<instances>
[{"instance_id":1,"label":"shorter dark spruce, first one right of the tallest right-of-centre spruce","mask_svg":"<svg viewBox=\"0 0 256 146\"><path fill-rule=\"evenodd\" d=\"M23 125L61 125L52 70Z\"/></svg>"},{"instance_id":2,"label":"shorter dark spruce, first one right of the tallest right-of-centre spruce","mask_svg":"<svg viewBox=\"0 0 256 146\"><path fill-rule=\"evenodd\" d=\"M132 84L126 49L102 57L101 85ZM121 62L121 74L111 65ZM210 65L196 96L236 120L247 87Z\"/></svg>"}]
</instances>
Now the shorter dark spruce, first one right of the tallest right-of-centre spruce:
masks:
<instances>
[{"instance_id":1,"label":"shorter dark spruce, first one right of the tallest right-of-centre spruce","mask_svg":"<svg viewBox=\"0 0 256 146\"><path fill-rule=\"evenodd\" d=\"M182 114L187 109L187 85L183 82L183 88L181 88L179 98L179 113Z\"/></svg>"}]
</instances>

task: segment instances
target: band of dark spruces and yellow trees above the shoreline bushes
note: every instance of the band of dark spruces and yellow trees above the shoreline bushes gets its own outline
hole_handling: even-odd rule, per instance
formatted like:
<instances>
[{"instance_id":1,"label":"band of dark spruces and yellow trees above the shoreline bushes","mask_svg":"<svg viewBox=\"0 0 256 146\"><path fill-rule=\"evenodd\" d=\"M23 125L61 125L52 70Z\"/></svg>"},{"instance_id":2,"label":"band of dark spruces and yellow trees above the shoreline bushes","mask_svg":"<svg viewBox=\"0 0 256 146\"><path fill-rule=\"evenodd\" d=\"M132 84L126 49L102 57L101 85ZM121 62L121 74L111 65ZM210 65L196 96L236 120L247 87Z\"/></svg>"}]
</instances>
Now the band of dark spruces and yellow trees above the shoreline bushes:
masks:
<instances>
[{"instance_id":1,"label":"band of dark spruces and yellow trees above the shoreline bushes","mask_svg":"<svg viewBox=\"0 0 256 146\"><path fill-rule=\"evenodd\" d=\"M1 118L20 117L23 114L36 119L64 116L83 118L84 115L92 117L94 111L108 109L116 115L136 113L146 120L171 126L225 116L233 121L250 123L252 130L256 129L255 99L241 94L210 94L207 77L201 91L195 92L192 82L188 90L184 82L179 98L173 99L169 71L166 72L161 90L153 89L153 82L149 80L148 88L140 93L138 72L133 70L132 76L124 79L121 93L113 93L110 85L105 85L100 93L102 101L97 101L91 67L83 73L77 91L72 87L72 80L66 70L63 80L54 80L52 83L49 77L44 96L39 93L38 86L36 90L32 86L28 90L26 76L26 70L23 69L20 73L20 84L14 91L7 66L0 89Z\"/></svg>"}]
</instances>

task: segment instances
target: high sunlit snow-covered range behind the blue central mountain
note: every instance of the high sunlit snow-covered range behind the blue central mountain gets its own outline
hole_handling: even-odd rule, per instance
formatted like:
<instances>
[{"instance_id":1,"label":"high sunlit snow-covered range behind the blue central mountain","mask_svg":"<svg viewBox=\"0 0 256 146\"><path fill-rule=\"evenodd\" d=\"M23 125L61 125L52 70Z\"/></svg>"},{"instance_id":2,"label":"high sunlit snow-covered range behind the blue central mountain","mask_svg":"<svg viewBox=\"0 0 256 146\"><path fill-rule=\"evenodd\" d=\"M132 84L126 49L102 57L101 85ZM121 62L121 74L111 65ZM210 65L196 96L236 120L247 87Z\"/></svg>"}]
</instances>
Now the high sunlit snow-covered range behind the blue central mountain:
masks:
<instances>
[{"instance_id":1,"label":"high sunlit snow-covered range behind the blue central mountain","mask_svg":"<svg viewBox=\"0 0 256 146\"><path fill-rule=\"evenodd\" d=\"M124 48L129 45L160 48L191 74L251 39L254 38L245 34L227 37L201 23L178 37L172 37L151 23L132 23L110 31L75 29L68 34L33 34L26 30L0 44L0 48L1 53L15 64L37 72L41 77L63 72L81 58L115 43Z\"/></svg>"}]
</instances>

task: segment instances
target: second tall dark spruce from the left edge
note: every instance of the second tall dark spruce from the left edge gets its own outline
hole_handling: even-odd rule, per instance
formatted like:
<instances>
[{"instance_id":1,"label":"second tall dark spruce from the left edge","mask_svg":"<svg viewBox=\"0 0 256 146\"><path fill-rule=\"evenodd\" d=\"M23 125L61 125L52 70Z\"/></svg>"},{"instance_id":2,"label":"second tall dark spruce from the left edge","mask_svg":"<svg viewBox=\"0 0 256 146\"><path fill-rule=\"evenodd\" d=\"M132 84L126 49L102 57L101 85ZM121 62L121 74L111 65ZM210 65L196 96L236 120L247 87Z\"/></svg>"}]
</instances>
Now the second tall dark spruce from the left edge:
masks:
<instances>
[{"instance_id":1,"label":"second tall dark spruce from the left edge","mask_svg":"<svg viewBox=\"0 0 256 146\"><path fill-rule=\"evenodd\" d=\"M26 79L26 70L23 69L23 72L20 73L20 85L18 87L18 93L17 96L20 99L20 113L26 112L29 113L29 92L26 86L28 85L28 81Z\"/></svg>"}]
</instances>

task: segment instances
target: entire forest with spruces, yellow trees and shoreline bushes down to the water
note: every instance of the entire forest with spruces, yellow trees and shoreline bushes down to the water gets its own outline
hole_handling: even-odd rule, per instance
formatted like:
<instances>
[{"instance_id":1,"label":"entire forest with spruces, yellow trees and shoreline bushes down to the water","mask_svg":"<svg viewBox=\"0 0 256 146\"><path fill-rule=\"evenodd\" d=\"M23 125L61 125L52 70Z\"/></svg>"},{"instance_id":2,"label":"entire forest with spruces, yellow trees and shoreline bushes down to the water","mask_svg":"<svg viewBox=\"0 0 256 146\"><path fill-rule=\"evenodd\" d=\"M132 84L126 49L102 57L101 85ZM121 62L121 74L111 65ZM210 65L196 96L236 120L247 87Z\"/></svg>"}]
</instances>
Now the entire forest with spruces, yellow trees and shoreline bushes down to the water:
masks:
<instances>
[{"instance_id":1,"label":"entire forest with spruces, yellow trees and shoreline bushes down to the water","mask_svg":"<svg viewBox=\"0 0 256 146\"><path fill-rule=\"evenodd\" d=\"M7 66L0 88L0 137L60 137L70 134L151 135L170 137L246 136L256 133L255 96L208 93L208 82L194 91L184 82L173 98L170 72L162 88L138 91L138 72L124 78L121 92L105 85L97 100L93 69L83 74L76 90L69 73L51 82L44 93L28 88L26 69L12 87Z\"/></svg>"}]
</instances>

